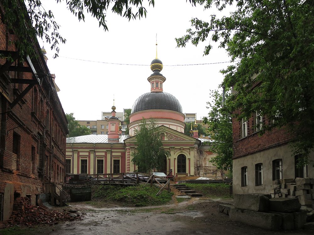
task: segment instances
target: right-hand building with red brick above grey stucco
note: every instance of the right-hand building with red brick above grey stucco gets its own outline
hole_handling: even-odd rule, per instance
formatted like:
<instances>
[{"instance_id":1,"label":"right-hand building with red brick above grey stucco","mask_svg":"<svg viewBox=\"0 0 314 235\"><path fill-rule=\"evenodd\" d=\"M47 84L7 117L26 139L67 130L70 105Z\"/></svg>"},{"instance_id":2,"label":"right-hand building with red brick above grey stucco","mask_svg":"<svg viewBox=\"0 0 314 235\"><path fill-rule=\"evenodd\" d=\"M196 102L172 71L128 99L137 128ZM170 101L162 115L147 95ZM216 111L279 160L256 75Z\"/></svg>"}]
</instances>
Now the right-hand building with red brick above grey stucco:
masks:
<instances>
[{"instance_id":1,"label":"right-hand building with red brick above grey stucco","mask_svg":"<svg viewBox=\"0 0 314 235\"><path fill-rule=\"evenodd\" d=\"M290 147L291 135L285 128L260 135L269 120L254 113L248 120L233 118L233 192L269 193L273 180L314 177L312 164L296 166L299 155ZM314 160L314 153L309 162Z\"/></svg>"}]
</instances>

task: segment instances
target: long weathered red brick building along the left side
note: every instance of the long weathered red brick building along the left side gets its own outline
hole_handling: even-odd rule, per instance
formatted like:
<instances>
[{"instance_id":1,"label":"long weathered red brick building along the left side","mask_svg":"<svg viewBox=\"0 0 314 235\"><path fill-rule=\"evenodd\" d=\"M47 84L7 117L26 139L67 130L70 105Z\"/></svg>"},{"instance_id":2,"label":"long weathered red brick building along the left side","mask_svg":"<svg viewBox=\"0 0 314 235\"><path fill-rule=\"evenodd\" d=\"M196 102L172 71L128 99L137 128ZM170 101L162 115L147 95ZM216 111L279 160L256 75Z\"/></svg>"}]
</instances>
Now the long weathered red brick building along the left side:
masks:
<instances>
[{"instance_id":1,"label":"long weathered red brick building along the left side","mask_svg":"<svg viewBox=\"0 0 314 235\"><path fill-rule=\"evenodd\" d=\"M1 3L0 3L1 5ZM22 6L24 7L24 6ZM67 119L37 39L37 54L24 62L17 55L14 30L7 30L0 8L0 221L7 220L14 198L32 204L45 183L62 183L65 175ZM17 56L18 57L18 56ZM16 58L17 58L16 57Z\"/></svg>"}]
</instances>

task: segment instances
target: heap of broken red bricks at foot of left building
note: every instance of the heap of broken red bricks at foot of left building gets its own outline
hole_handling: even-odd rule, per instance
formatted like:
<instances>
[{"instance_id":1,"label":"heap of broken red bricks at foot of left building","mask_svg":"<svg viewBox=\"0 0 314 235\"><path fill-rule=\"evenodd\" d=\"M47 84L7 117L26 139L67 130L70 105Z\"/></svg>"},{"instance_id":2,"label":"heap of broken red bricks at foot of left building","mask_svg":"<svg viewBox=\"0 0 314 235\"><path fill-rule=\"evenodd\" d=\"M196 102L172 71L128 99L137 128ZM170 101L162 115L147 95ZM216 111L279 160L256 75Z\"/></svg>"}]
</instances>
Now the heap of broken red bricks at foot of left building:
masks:
<instances>
[{"instance_id":1,"label":"heap of broken red bricks at foot of left building","mask_svg":"<svg viewBox=\"0 0 314 235\"><path fill-rule=\"evenodd\" d=\"M72 213L71 213L72 212ZM76 211L56 212L46 210L40 206L31 205L27 197L18 197L13 204L13 213L9 220L5 221L10 227L14 225L32 226L38 224L57 224L59 221L73 221L81 216Z\"/></svg>"}]
</instances>

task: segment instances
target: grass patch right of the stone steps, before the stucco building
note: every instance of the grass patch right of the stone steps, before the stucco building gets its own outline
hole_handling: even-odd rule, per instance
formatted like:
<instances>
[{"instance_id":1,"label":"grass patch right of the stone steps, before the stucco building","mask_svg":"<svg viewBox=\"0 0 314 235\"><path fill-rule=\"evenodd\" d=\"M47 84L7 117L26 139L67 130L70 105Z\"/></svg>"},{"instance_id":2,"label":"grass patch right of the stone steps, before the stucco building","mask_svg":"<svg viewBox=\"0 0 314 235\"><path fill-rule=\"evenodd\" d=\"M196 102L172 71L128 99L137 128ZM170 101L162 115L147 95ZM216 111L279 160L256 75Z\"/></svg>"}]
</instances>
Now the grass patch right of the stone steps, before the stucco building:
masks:
<instances>
[{"instance_id":1,"label":"grass patch right of the stone steps, before the stucco building","mask_svg":"<svg viewBox=\"0 0 314 235\"><path fill-rule=\"evenodd\" d=\"M229 194L230 185L224 183L212 184L186 184L193 190L200 192L205 197L211 198L231 198Z\"/></svg>"}]
</instances>

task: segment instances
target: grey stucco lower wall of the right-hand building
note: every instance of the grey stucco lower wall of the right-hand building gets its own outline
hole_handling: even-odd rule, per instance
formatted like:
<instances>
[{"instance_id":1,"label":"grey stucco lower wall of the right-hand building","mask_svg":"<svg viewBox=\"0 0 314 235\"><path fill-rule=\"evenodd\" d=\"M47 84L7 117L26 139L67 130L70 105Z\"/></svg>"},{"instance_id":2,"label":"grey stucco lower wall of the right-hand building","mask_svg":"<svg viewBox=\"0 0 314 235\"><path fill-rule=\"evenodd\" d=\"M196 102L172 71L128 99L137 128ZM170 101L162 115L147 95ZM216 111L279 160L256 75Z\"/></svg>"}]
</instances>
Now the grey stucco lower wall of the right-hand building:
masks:
<instances>
[{"instance_id":1,"label":"grey stucco lower wall of the right-hand building","mask_svg":"<svg viewBox=\"0 0 314 235\"><path fill-rule=\"evenodd\" d=\"M295 178L295 159L289 145L264 150L233 159L233 193L269 193L273 182L272 161L282 159L283 178ZM314 153L310 154L314 160ZM263 163L263 185L255 186L255 164ZM247 166L247 186L241 187L241 167ZM314 177L314 168L308 165L308 177Z\"/></svg>"}]
</instances>

